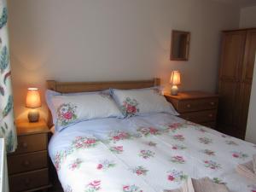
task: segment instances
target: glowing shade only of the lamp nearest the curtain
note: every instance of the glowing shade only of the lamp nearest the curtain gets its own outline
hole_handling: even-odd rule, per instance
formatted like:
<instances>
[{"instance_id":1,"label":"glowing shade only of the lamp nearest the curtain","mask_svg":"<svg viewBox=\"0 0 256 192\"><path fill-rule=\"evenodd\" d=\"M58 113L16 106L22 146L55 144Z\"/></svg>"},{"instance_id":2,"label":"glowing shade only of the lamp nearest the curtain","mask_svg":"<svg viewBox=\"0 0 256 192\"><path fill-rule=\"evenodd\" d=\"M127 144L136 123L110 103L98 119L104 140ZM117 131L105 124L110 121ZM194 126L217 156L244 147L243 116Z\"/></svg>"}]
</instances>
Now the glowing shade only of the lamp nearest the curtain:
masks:
<instances>
[{"instance_id":1,"label":"glowing shade only of the lamp nearest the curtain","mask_svg":"<svg viewBox=\"0 0 256 192\"><path fill-rule=\"evenodd\" d=\"M41 100L38 88L28 88L26 93L26 108L41 107Z\"/></svg>"}]
</instances>

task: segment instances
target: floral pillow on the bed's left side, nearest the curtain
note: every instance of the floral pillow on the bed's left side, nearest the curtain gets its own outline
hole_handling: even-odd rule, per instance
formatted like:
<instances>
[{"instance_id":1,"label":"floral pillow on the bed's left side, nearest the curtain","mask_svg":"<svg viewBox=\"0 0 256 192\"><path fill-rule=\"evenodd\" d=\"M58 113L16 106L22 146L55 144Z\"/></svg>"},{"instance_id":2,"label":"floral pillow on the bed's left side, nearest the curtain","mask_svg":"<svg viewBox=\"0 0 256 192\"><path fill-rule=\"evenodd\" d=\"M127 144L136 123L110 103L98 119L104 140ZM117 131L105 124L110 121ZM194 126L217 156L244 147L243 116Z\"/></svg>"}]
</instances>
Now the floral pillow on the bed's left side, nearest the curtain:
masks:
<instances>
[{"instance_id":1,"label":"floral pillow on the bed's left side, nearest the curtain","mask_svg":"<svg viewBox=\"0 0 256 192\"><path fill-rule=\"evenodd\" d=\"M107 90L73 94L46 90L46 102L56 131L83 120L124 117Z\"/></svg>"}]
</instances>

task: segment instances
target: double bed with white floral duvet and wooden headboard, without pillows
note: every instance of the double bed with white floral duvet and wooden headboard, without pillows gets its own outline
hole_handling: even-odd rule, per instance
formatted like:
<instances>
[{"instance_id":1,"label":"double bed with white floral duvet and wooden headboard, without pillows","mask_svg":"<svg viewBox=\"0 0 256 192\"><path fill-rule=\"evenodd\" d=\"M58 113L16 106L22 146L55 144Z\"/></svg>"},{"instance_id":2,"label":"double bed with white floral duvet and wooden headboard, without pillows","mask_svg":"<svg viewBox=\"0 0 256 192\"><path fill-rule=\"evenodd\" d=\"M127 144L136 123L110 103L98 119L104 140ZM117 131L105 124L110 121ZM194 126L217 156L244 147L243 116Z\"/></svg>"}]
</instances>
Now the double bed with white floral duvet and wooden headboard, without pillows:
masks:
<instances>
[{"instance_id":1,"label":"double bed with white floral duvet and wooden headboard, without pillows","mask_svg":"<svg viewBox=\"0 0 256 192\"><path fill-rule=\"evenodd\" d=\"M127 82L61 83L61 93L147 88L160 79ZM49 117L49 125L52 125ZM49 156L65 192L161 192L188 177L210 177L232 192L255 191L236 166L256 154L256 146L168 113L128 119L81 121L55 132Z\"/></svg>"}]
</instances>

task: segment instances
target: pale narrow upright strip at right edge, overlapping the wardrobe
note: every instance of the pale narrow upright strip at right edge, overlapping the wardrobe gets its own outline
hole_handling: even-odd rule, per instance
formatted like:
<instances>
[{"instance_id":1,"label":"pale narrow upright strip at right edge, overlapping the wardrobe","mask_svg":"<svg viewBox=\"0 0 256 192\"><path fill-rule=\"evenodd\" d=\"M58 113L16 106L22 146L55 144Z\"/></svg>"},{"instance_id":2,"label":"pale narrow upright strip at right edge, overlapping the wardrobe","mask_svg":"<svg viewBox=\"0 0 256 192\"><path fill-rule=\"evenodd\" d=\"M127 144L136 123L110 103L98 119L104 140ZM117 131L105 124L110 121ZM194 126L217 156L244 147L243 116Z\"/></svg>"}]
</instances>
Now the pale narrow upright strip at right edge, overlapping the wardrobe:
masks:
<instances>
[{"instance_id":1,"label":"pale narrow upright strip at right edge, overlapping the wardrobe","mask_svg":"<svg viewBox=\"0 0 256 192\"><path fill-rule=\"evenodd\" d=\"M256 66L256 59L254 66ZM253 86L250 99L250 108L247 119L246 141L256 143L256 68L253 71Z\"/></svg>"}]
</instances>

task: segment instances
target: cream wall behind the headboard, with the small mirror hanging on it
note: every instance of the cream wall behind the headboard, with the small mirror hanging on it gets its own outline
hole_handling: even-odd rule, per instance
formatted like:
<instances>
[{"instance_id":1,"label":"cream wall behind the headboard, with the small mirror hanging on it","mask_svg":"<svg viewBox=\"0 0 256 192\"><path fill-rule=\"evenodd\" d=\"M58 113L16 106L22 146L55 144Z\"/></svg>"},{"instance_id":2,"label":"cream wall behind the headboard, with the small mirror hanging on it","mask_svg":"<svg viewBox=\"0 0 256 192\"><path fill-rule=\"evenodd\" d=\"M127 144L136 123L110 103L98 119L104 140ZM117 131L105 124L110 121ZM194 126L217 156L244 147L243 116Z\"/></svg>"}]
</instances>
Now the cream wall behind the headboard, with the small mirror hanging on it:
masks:
<instances>
[{"instance_id":1,"label":"cream wall behind the headboard, with the small mirror hanging on it","mask_svg":"<svg viewBox=\"0 0 256 192\"><path fill-rule=\"evenodd\" d=\"M43 95L46 79L166 85L177 69L183 90L215 91L220 31L238 26L238 8L206 0L9 1L15 115L26 115L26 88ZM191 32L187 62L169 60L172 29Z\"/></svg>"}]
</instances>

